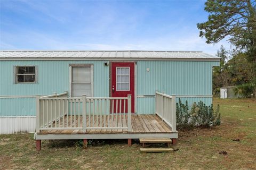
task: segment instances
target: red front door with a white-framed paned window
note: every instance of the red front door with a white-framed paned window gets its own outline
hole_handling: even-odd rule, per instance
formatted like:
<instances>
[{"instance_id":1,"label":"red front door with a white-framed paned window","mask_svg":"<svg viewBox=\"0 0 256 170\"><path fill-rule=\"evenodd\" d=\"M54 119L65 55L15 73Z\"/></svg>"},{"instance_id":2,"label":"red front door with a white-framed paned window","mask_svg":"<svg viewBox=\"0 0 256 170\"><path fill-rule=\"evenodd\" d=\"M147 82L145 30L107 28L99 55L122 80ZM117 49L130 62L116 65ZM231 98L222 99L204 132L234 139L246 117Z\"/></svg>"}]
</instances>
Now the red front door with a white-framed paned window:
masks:
<instances>
[{"instance_id":1,"label":"red front door with a white-framed paned window","mask_svg":"<svg viewBox=\"0 0 256 170\"><path fill-rule=\"evenodd\" d=\"M112 62L111 97L127 97L127 95L132 95L132 113L134 113L134 62Z\"/></svg>"}]
</instances>

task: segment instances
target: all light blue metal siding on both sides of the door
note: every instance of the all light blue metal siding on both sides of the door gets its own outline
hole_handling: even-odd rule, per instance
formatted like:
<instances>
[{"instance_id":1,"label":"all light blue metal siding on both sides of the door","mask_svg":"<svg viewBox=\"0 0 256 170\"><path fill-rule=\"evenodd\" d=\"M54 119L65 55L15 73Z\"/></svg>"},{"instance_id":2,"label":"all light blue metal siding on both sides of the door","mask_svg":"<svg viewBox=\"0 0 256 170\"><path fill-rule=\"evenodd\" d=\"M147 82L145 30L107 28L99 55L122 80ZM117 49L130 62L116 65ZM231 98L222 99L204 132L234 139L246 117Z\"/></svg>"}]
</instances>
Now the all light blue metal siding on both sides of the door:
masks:
<instances>
[{"instance_id":1,"label":"all light blue metal siding on both sides of the door","mask_svg":"<svg viewBox=\"0 0 256 170\"><path fill-rule=\"evenodd\" d=\"M1 61L0 96L50 95L69 91L69 64L76 63L93 64L94 97L109 96L109 66L104 66L104 61ZM14 84L14 65L37 65L38 82ZM169 95L211 95L212 66L218 65L219 62L138 61L137 94L154 95L158 90ZM188 98L190 104L199 100L207 105L212 103L212 98ZM0 99L0 107L0 116L35 115L35 98ZM137 112L153 114L155 99L138 98Z\"/></svg>"}]
</instances>

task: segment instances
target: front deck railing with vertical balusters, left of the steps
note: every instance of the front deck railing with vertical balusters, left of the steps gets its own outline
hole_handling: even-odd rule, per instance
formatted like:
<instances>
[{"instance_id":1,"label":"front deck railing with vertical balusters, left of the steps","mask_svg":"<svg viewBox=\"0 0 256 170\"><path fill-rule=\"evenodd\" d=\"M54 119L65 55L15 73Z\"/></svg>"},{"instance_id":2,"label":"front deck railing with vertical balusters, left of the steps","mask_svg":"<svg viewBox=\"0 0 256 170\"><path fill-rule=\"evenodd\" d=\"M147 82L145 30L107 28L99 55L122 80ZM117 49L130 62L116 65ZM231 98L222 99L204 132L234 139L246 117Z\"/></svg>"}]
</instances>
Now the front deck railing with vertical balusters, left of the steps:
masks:
<instances>
[{"instance_id":1,"label":"front deck railing with vertical balusters, left of the steps","mask_svg":"<svg viewBox=\"0 0 256 170\"><path fill-rule=\"evenodd\" d=\"M127 129L131 131L131 95L36 98L36 131ZM59 95L62 96L62 95Z\"/></svg>"}]
</instances>

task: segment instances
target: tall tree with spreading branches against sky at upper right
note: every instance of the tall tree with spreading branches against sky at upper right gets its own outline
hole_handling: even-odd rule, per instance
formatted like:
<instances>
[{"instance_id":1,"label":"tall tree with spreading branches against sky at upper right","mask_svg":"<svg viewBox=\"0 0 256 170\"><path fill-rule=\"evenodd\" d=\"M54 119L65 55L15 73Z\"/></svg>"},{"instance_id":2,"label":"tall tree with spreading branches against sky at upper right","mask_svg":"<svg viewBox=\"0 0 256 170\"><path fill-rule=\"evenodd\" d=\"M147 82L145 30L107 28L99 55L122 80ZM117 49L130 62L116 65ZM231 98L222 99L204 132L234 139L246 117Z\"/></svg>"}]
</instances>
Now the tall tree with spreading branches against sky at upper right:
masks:
<instances>
[{"instance_id":1,"label":"tall tree with spreading branches against sky at upper right","mask_svg":"<svg viewBox=\"0 0 256 170\"><path fill-rule=\"evenodd\" d=\"M256 1L207 0L208 21L198 23L199 36L206 43L218 43L227 37L238 53L244 53L251 63L254 96L256 97Z\"/></svg>"}]
</instances>

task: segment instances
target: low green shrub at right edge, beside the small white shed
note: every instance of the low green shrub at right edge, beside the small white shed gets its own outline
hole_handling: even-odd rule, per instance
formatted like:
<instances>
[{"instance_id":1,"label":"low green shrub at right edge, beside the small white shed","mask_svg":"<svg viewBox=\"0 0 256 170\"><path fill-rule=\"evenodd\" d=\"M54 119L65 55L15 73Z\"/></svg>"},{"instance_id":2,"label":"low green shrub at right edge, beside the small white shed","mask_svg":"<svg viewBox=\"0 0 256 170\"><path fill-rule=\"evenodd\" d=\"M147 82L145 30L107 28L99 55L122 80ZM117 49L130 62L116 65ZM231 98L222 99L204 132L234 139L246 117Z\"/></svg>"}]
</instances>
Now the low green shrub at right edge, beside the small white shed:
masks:
<instances>
[{"instance_id":1,"label":"low green shrub at right edge, beside the small white shed","mask_svg":"<svg viewBox=\"0 0 256 170\"><path fill-rule=\"evenodd\" d=\"M252 83L238 85L234 88L234 94L244 98L250 98L251 94L253 94L254 86Z\"/></svg>"}]
</instances>

